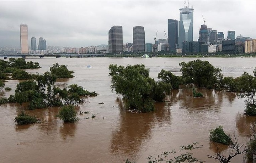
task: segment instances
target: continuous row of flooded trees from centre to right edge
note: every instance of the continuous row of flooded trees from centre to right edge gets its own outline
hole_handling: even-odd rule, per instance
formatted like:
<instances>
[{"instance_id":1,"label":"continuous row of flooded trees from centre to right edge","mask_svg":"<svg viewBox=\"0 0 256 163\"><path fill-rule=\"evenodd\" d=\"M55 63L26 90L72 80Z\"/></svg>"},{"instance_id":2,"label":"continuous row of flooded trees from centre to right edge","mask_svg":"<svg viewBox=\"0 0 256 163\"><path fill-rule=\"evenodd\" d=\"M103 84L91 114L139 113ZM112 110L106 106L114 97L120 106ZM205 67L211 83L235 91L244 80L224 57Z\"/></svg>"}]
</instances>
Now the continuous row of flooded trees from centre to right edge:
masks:
<instances>
[{"instance_id":1,"label":"continuous row of flooded trees from centre to right edge","mask_svg":"<svg viewBox=\"0 0 256 163\"><path fill-rule=\"evenodd\" d=\"M239 97L246 99L245 112L256 116L254 96L256 94L256 69L254 76L244 72L240 77L223 77L222 70L215 68L208 61L199 59L188 63L181 62L181 76L176 76L170 71L161 70L158 81L149 77L149 69L144 64L109 66L112 91L123 96L127 109L138 109L148 112L154 110L154 102L162 101L171 89L179 89L183 84L194 84L199 88L213 90L227 89L236 92ZM202 97L200 92L193 89L194 97Z\"/></svg>"}]
</instances>

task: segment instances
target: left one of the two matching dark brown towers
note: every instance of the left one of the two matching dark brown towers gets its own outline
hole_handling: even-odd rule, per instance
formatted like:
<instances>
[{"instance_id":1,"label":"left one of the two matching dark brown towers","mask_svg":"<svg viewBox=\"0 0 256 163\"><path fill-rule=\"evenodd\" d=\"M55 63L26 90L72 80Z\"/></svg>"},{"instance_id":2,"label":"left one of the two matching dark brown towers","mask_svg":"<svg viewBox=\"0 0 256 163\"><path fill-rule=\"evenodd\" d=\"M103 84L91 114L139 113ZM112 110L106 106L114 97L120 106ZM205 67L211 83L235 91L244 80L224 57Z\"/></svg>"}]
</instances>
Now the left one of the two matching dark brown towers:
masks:
<instances>
[{"instance_id":1,"label":"left one of the two matching dark brown towers","mask_svg":"<svg viewBox=\"0 0 256 163\"><path fill-rule=\"evenodd\" d=\"M113 26L108 31L108 52L112 54L123 52L123 27Z\"/></svg>"}]
</instances>

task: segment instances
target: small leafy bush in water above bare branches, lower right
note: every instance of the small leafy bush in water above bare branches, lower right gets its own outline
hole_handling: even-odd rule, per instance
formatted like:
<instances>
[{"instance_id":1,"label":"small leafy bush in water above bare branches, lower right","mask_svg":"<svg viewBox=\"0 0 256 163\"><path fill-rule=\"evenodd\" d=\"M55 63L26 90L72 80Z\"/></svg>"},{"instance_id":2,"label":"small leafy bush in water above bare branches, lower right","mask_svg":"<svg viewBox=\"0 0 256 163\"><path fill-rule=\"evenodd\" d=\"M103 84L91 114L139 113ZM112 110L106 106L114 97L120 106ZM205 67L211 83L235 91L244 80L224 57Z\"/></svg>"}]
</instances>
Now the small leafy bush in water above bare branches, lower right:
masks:
<instances>
[{"instance_id":1,"label":"small leafy bush in water above bare branches, lower right","mask_svg":"<svg viewBox=\"0 0 256 163\"><path fill-rule=\"evenodd\" d=\"M224 145L232 145L233 141L231 140L231 137L227 135L224 131L222 126L219 126L218 128L214 130L210 130L210 141L217 142Z\"/></svg>"}]
</instances>

